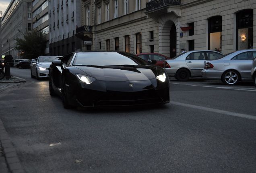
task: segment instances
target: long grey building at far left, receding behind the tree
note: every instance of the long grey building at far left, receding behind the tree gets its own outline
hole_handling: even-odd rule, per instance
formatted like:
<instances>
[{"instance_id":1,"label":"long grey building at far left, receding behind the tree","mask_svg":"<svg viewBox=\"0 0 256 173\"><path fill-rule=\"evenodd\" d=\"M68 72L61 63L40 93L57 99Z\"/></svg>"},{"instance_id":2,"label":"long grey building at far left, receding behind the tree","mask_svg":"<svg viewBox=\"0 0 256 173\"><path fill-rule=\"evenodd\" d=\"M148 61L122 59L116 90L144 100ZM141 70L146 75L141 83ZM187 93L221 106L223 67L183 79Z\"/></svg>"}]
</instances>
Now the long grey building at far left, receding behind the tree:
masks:
<instances>
[{"instance_id":1,"label":"long grey building at far left, receding behind the tree","mask_svg":"<svg viewBox=\"0 0 256 173\"><path fill-rule=\"evenodd\" d=\"M21 57L15 49L15 38L23 38L23 33L32 30L32 0L12 0L1 19L1 55L11 54L14 59Z\"/></svg>"}]
</instances>

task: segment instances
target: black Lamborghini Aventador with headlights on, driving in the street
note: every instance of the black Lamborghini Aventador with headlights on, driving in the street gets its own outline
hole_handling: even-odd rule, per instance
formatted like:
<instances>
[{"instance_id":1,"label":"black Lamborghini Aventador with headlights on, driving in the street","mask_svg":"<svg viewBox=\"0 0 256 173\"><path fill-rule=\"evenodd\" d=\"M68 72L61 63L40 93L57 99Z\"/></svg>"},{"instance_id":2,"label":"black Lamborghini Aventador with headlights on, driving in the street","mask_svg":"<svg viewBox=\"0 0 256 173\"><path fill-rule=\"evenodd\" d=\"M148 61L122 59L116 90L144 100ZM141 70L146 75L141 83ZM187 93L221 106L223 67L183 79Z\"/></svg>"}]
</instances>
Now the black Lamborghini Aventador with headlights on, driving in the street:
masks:
<instances>
[{"instance_id":1,"label":"black Lamborghini Aventador with headlights on, driving in the street","mask_svg":"<svg viewBox=\"0 0 256 173\"><path fill-rule=\"evenodd\" d=\"M151 63L127 52L73 52L52 62L50 95L64 108L169 103L168 76Z\"/></svg>"}]
</instances>

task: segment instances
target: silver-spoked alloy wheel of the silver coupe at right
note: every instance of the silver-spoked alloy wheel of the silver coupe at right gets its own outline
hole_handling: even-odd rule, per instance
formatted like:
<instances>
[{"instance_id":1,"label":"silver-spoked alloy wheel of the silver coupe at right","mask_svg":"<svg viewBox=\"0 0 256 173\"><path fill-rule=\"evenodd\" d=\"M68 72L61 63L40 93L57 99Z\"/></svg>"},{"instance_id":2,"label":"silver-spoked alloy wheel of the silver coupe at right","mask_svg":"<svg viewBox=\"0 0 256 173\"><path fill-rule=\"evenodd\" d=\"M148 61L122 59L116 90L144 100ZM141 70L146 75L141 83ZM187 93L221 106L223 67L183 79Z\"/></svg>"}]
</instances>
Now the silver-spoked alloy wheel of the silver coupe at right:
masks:
<instances>
[{"instance_id":1,"label":"silver-spoked alloy wheel of the silver coupe at right","mask_svg":"<svg viewBox=\"0 0 256 173\"><path fill-rule=\"evenodd\" d=\"M221 80L227 85L235 85L239 82L240 75L235 70L227 70L225 71L222 76Z\"/></svg>"}]
</instances>

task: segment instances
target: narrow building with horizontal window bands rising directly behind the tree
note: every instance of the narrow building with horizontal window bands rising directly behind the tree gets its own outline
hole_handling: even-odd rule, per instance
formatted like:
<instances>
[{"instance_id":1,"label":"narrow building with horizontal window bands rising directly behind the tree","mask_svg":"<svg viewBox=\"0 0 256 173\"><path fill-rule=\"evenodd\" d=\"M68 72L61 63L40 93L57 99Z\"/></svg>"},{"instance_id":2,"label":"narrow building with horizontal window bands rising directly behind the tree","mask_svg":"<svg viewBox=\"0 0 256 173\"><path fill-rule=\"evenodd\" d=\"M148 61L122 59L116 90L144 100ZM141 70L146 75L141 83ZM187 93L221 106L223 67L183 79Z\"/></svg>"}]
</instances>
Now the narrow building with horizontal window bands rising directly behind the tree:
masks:
<instances>
[{"instance_id":1,"label":"narrow building with horizontal window bands rising directly behind the tree","mask_svg":"<svg viewBox=\"0 0 256 173\"><path fill-rule=\"evenodd\" d=\"M49 0L33 0L32 27L45 34L47 40L45 54L49 54Z\"/></svg>"}]
</instances>

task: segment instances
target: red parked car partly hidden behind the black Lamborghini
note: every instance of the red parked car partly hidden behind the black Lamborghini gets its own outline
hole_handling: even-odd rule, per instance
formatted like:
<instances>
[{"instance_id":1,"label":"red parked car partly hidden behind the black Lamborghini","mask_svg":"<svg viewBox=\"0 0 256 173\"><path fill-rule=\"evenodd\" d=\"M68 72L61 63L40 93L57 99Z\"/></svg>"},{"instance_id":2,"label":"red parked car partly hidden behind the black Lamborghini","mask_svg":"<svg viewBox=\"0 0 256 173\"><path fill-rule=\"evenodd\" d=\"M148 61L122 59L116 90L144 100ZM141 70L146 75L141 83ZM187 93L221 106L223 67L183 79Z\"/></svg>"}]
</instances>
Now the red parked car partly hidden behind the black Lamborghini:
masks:
<instances>
[{"instance_id":1,"label":"red parked car partly hidden behind the black Lamborghini","mask_svg":"<svg viewBox=\"0 0 256 173\"><path fill-rule=\"evenodd\" d=\"M159 54L159 53L140 53L140 54L136 54L136 56L144 59L145 61L150 60L156 60L157 63L155 65L164 67L164 64L166 63L165 60L171 59L163 54Z\"/></svg>"}]
</instances>

